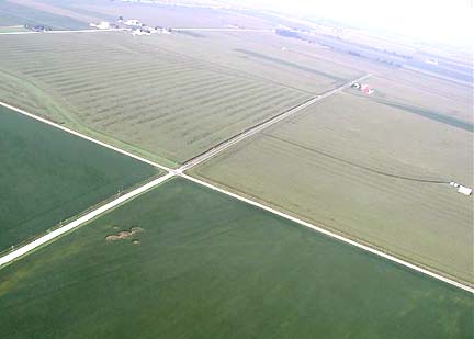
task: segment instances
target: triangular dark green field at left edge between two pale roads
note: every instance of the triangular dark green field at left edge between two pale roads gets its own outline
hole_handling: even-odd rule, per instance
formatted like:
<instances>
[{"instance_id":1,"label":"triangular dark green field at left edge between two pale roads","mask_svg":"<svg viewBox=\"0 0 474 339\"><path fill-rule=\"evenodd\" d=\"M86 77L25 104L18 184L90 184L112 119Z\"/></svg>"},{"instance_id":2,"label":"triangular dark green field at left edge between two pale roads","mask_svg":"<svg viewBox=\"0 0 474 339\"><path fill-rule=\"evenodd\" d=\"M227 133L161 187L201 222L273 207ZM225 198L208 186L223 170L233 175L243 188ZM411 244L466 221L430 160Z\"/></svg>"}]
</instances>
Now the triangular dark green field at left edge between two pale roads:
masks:
<instances>
[{"instance_id":1,"label":"triangular dark green field at left edge between two pale roads","mask_svg":"<svg viewBox=\"0 0 474 339\"><path fill-rule=\"evenodd\" d=\"M0 106L0 251L158 170Z\"/></svg>"}]
</instances>

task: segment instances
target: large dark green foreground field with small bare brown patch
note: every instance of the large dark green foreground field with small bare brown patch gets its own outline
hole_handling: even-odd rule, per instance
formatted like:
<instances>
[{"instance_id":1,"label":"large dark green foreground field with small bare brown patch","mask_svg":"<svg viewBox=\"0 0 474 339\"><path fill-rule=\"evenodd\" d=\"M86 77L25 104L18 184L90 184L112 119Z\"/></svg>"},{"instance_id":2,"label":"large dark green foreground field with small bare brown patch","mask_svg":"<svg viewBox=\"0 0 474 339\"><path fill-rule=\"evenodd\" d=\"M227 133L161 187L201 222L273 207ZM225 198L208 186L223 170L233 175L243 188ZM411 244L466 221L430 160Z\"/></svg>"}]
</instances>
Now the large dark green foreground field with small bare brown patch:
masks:
<instances>
[{"instance_id":1,"label":"large dark green foreground field with small bare brown patch","mask_svg":"<svg viewBox=\"0 0 474 339\"><path fill-rule=\"evenodd\" d=\"M183 179L0 270L2 338L470 338L473 306Z\"/></svg>"}]
</instances>

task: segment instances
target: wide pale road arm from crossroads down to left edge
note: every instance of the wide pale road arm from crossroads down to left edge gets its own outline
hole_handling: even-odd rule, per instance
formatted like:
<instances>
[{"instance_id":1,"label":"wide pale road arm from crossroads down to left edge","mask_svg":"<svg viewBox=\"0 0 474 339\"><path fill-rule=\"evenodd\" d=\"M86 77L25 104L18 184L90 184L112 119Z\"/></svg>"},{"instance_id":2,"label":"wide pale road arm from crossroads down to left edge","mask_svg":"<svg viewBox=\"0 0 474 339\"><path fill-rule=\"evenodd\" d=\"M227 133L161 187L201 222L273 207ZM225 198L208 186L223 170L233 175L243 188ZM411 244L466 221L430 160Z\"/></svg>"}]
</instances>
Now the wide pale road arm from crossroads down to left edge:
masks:
<instances>
[{"instance_id":1,"label":"wide pale road arm from crossroads down to left edge","mask_svg":"<svg viewBox=\"0 0 474 339\"><path fill-rule=\"evenodd\" d=\"M23 257L24 255L33 251L34 249L38 248L40 246L66 234L67 231L75 229L75 228L86 224L87 222L90 222L91 219L100 216L101 214L109 212L110 210L123 204L124 202L126 202L126 201L155 188L155 187L157 187L158 184L167 181L168 179L173 178L174 176L176 176L174 173L167 173L163 177L155 179L155 180L153 180L153 181L150 181L150 182L148 182L148 183L146 183L146 184L144 184L144 185L142 185L142 187L139 187L139 188L109 202L109 203L106 203L105 205L77 218L76 221L74 221L67 225L64 225L63 227L59 227L59 228L48 233L47 235L25 245L23 247L20 247L19 249L16 249L16 250L14 250L14 251L0 258L0 268L2 268L3 265L5 265L8 263L15 261L16 259L19 259L19 258Z\"/></svg>"}]
</instances>

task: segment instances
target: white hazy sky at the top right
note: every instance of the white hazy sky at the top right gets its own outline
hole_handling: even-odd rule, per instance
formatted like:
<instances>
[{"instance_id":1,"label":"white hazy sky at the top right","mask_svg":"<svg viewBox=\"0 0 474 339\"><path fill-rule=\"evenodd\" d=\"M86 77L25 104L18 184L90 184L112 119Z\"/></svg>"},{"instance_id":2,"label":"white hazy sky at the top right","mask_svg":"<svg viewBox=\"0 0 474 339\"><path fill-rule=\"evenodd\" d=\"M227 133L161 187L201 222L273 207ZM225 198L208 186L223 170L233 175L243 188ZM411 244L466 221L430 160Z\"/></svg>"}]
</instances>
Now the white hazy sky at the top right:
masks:
<instances>
[{"instance_id":1,"label":"white hazy sky at the top right","mask_svg":"<svg viewBox=\"0 0 474 339\"><path fill-rule=\"evenodd\" d=\"M245 0L284 12L311 13L415 38L472 45L473 0ZM240 1L238 1L240 2Z\"/></svg>"}]
</instances>

